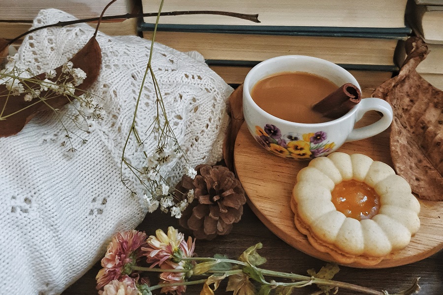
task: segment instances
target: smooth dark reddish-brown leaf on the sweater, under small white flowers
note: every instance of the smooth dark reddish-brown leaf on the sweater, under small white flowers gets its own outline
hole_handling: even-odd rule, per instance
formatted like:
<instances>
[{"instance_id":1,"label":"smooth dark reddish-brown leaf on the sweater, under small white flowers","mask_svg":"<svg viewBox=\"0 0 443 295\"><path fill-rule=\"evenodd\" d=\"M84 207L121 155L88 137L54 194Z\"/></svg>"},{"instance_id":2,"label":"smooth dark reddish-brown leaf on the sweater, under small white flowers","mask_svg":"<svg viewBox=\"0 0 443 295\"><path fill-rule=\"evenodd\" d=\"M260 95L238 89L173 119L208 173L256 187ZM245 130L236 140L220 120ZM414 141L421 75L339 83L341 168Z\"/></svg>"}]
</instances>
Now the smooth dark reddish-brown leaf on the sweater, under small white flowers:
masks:
<instances>
[{"instance_id":1,"label":"smooth dark reddish-brown leaf on the sweater, under small white flowers","mask_svg":"<svg viewBox=\"0 0 443 295\"><path fill-rule=\"evenodd\" d=\"M74 68L81 68L87 75L83 83L77 86L78 90L76 90L75 94L80 95L81 92L93 85L100 71L101 49L95 39L95 35L70 61L72 61ZM53 81L56 81L58 77L64 74L62 72L62 66L56 68L55 71L57 75L56 78L52 79ZM42 81L45 79L45 73L33 78ZM40 86L36 83L28 83L28 86L32 89L40 89ZM0 93L8 93L5 84L0 85ZM48 105L54 109L58 109L74 99L72 96L66 97L56 94L51 90L42 91L40 94L40 97L46 97L45 103L38 98L34 98L32 101L25 101L24 97L25 93L17 96L9 95L8 97L8 95L2 95L0 97L0 110L4 107L2 117L14 114L0 120L0 137L7 137L20 132L38 112L49 110L50 107L48 107ZM46 105L46 103L48 105Z\"/></svg>"}]
</instances>

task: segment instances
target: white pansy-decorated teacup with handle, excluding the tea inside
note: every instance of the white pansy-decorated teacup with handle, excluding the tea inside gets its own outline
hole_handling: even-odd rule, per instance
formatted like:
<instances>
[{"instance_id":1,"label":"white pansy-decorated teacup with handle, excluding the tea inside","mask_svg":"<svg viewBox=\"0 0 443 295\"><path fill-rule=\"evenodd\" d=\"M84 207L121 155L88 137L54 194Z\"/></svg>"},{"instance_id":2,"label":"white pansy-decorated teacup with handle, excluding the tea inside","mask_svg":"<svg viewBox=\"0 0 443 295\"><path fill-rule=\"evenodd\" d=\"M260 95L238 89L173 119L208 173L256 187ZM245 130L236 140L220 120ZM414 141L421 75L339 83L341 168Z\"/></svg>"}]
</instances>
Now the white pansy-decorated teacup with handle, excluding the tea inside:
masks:
<instances>
[{"instance_id":1,"label":"white pansy-decorated teacup with handle, excluding the tea inside","mask_svg":"<svg viewBox=\"0 0 443 295\"><path fill-rule=\"evenodd\" d=\"M255 140L274 154L293 159L324 156L345 142L379 134L392 122L392 108L380 98L363 98L341 118L324 123L297 123L272 116L257 106L251 97L251 90L258 81L282 72L307 72L324 77L338 86L352 83L360 89L357 80L347 70L324 59L281 56L254 66L243 85L243 113ZM355 122L371 110L381 112L383 117L368 126L354 128Z\"/></svg>"}]
</instances>

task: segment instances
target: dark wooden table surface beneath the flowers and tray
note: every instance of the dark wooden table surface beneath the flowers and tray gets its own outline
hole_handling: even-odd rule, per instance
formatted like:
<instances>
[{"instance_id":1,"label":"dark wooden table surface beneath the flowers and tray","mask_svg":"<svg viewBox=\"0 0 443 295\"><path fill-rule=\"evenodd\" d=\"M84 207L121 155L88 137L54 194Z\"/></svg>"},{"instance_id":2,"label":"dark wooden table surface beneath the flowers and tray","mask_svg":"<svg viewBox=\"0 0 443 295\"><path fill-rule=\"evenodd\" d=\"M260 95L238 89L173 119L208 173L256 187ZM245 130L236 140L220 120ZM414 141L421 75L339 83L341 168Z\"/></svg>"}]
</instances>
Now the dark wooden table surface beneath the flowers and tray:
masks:
<instances>
[{"instance_id":1,"label":"dark wooden table surface beneath the flowers and tray","mask_svg":"<svg viewBox=\"0 0 443 295\"><path fill-rule=\"evenodd\" d=\"M214 254L220 253L227 255L229 258L237 258L249 246L262 242L263 249L259 250L259 254L267 259L267 262L262 265L263 268L306 275L307 269L315 268L318 270L325 265L325 262L296 250L275 236L260 222L247 205L244 209L242 220L234 226L229 235L219 236L212 241L197 240L195 252L199 257L212 257ZM138 230L145 231L147 235L153 235L158 228L166 232L168 226L180 229L177 220L171 218L168 214L155 212L146 216ZM189 234L185 231L182 232L186 236ZM100 268L97 263L63 292L63 295L97 294L95 275ZM419 294L443 294L443 251L405 266L384 269L360 269L341 266L340 269L334 279L377 290L387 290L390 294L409 286L415 277L421 277L421 291ZM216 291L216 295L232 294L232 292L224 292L225 284L226 282L221 284L221 287ZM308 295L316 290L315 287L306 287L295 294ZM156 291L154 294L159 294L159 292ZM186 294L200 294L200 286L190 286ZM353 295L355 293L339 290L338 294Z\"/></svg>"}]
</instances>

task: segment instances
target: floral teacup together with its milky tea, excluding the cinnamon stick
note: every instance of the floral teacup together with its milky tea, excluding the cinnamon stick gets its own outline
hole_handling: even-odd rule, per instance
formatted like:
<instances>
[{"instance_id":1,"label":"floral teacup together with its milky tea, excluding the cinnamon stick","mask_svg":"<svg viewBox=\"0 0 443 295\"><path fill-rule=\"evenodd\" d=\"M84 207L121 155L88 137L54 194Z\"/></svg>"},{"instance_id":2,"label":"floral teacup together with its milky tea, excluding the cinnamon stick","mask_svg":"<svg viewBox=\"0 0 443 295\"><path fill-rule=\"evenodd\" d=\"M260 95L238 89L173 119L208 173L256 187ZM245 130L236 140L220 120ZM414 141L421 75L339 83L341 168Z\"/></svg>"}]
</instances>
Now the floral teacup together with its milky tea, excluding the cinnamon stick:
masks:
<instances>
[{"instance_id":1,"label":"floral teacup together with its milky tea, excluding the cinnamon stick","mask_svg":"<svg viewBox=\"0 0 443 295\"><path fill-rule=\"evenodd\" d=\"M251 69L243 86L243 113L254 139L273 154L292 159L327 155L345 142L379 134L392 122L392 108L380 98L363 98L337 119L322 117L312 106L355 78L324 59L281 56ZM371 110L383 117L361 128L354 124Z\"/></svg>"}]
</instances>

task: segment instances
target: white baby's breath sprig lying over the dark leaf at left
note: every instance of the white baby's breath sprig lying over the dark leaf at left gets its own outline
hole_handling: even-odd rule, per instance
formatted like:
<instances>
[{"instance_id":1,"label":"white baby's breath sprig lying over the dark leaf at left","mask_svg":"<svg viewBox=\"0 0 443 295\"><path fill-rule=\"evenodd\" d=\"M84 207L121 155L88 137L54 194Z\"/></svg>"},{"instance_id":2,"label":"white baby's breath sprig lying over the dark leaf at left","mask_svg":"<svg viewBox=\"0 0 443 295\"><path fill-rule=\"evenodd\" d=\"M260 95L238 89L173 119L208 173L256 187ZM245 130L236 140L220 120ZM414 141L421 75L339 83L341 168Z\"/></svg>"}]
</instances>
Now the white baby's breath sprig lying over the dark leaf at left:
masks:
<instances>
[{"instance_id":1,"label":"white baby's breath sprig lying over the dark leaf at left","mask_svg":"<svg viewBox=\"0 0 443 295\"><path fill-rule=\"evenodd\" d=\"M102 108L96 102L99 101L99 97L76 88L76 86L83 83L86 73L80 68L74 68L72 62L68 61L63 64L63 73L58 77L56 70L50 69L45 72L43 78L40 78L41 75L32 72L29 68L17 67L14 57L8 59L8 66L0 71L0 84L4 84L6 88L5 92L0 93L0 98L5 101L0 106L0 120L7 119L24 110L4 114L6 104L12 100L24 99L30 103L42 102L56 114L58 120L62 123L65 131L64 140L61 142L62 147L67 146L67 151L74 152L76 150L72 141L74 137L79 138L81 143L85 144L87 140L78 131L90 133L91 121L102 119ZM71 104L73 107L69 108L69 111L66 108L62 110L52 107L50 100L59 96L77 102ZM69 130L63 124L62 118L72 120L78 130Z\"/></svg>"}]
</instances>

